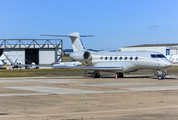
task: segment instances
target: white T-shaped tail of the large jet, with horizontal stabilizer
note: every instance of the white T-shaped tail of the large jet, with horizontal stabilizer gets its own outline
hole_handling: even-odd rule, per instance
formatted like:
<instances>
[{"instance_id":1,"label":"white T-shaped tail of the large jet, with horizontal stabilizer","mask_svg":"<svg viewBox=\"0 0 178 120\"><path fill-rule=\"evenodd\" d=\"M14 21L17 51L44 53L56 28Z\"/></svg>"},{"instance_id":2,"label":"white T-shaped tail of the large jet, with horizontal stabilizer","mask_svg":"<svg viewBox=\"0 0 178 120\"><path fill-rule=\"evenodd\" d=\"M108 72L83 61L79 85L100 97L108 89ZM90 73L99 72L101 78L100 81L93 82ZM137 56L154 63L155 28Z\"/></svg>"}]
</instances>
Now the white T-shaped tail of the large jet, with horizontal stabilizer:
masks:
<instances>
[{"instance_id":1,"label":"white T-shaped tail of the large jet, with horizontal stabilizer","mask_svg":"<svg viewBox=\"0 0 178 120\"><path fill-rule=\"evenodd\" d=\"M40 36L70 37L74 52L85 50L85 47L82 41L80 40L80 37L93 37L93 35L80 36L78 32L74 32L68 35L40 35Z\"/></svg>"}]
</instances>

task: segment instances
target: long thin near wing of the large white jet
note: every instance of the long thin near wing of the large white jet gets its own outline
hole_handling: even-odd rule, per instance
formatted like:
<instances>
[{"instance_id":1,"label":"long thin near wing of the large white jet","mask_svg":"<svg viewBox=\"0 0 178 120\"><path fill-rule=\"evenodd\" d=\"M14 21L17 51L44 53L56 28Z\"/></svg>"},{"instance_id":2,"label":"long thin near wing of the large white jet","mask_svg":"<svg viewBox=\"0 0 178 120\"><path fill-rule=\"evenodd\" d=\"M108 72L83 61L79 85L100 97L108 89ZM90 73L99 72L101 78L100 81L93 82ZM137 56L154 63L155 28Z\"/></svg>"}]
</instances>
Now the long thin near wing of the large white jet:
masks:
<instances>
[{"instance_id":1,"label":"long thin near wing of the large white jet","mask_svg":"<svg viewBox=\"0 0 178 120\"><path fill-rule=\"evenodd\" d=\"M82 66L53 66L53 65L30 65L30 64L21 64L20 66L36 66L36 67L57 67L57 68L73 68L73 69L84 69L84 70L124 70L123 67L82 67Z\"/></svg>"}]
</instances>

